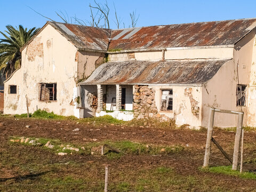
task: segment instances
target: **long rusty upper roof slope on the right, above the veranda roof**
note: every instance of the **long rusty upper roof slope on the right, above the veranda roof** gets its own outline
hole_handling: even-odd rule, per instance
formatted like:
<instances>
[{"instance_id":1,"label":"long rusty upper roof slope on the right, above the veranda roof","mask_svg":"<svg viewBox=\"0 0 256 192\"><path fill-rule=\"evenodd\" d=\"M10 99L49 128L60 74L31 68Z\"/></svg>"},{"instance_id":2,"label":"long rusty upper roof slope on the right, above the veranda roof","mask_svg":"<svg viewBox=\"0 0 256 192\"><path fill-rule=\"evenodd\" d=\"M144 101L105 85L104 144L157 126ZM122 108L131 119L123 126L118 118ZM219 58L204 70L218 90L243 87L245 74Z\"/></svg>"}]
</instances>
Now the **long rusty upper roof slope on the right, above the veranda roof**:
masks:
<instances>
[{"instance_id":1,"label":"long rusty upper roof slope on the right, above the veranda roof","mask_svg":"<svg viewBox=\"0 0 256 192\"><path fill-rule=\"evenodd\" d=\"M234 45L255 23L254 18L117 29L111 31L109 50Z\"/></svg>"}]
</instances>

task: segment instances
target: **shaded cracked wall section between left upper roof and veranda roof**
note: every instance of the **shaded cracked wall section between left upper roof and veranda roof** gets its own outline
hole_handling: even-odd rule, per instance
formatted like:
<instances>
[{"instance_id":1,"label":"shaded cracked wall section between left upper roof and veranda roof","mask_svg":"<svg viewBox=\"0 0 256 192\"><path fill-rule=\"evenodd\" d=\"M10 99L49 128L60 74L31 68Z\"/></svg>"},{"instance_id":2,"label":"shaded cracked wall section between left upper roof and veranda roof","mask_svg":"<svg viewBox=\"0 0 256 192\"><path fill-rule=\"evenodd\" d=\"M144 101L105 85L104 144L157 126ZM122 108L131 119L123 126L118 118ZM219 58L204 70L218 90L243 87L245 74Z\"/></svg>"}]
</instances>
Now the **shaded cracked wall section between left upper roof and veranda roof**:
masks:
<instances>
[{"instance_id":1,"label":"shaded cracked wall section between left upper roof and veranda roof","mask_svg":"<svg viewBox=\"0 0 256 192\"><path fill-rule=\"evenodd\" d=\"M92 72L97 68L97 66L95 66L95 62L100 57L101 53L98 52L77 51L76 60L78 80L86 79L92 74Z\"/></svg>"}]
</instances>

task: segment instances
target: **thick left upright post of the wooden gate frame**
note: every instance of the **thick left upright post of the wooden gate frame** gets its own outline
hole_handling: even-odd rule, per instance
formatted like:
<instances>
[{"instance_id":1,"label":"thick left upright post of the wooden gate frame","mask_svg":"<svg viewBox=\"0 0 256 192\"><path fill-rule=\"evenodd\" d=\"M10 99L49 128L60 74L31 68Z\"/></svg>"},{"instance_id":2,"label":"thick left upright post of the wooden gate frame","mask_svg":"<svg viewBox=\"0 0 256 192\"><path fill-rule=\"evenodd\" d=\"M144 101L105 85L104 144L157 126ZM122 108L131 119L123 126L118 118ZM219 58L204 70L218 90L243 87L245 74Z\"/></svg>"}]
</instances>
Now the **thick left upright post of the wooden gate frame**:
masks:
<instances>
[{"instance_id":1,"label":"thick left upright post of the wooden gate frame","mask_svg":"<svg viewBox=\"0 0 256 192\"><path fill-rule=\"evenodd\" d=\"M211 155L211 139L212 139L212 131L213 131L213 121L214 121L214 109L210 108L210 116L209 116L209 123L208 123L208 129L207 129L207 139L206 139L203 167L209 166L210 155Z\"/></svg>"}]
</instances>

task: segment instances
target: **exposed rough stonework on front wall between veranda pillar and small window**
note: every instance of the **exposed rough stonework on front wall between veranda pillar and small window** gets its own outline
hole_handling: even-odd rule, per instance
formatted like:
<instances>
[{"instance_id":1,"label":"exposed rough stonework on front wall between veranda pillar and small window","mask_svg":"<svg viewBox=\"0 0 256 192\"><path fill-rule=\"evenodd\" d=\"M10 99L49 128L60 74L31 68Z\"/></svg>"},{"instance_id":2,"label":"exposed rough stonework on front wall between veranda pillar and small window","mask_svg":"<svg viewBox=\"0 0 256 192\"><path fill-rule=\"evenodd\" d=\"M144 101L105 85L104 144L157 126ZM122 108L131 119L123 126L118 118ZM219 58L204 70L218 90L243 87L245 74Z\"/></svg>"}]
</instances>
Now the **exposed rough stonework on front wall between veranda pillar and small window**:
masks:
<instances>
[{"instance_id":1,"label":"exposed rough stonework on front wall between veranda pillar and small window","mask_svg":"<svg viewBox=\"0 0 256 192\"><path fill-rule=\"evenodd\" d=\"M155 103L155 90L148 86L135 85L133 93L134 116L142 118L159 118L164 121L169 118L158 113Z\"/></svg>"}]
</instances>

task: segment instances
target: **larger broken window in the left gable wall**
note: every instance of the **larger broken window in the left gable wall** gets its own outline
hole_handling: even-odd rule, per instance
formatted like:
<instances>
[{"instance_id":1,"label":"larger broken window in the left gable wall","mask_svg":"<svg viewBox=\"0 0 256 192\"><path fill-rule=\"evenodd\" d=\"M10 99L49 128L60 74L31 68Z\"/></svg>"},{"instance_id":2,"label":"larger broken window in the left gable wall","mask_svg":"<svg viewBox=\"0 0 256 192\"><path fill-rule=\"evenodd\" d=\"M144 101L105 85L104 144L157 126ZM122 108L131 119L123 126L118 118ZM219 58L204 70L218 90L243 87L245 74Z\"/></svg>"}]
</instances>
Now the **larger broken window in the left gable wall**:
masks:
<instances>
[{"instance_id":1,"label":"larger broken window in the left gable wall","mask_svg":"<svg viewBox=\"0 0 256 192\"><path fill-rule=\"evenodd\" d=\"M39 101L57 101L57 83L40 83L39 85Z\"/></svg>"}]
</instances>

